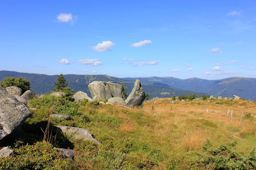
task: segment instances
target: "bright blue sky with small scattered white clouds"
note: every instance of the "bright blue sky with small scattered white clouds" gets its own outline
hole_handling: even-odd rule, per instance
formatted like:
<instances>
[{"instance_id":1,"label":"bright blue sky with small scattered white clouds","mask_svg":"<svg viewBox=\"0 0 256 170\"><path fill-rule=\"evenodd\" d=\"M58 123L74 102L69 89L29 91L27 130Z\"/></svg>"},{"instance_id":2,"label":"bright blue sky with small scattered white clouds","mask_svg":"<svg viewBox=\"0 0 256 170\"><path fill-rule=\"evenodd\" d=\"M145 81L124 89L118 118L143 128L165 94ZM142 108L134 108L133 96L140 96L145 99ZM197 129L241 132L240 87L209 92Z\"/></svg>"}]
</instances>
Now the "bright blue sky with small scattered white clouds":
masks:
<instances>
[{"instance_id":1,"label":"bright blue sky with small scattered white clouds","mask_svg":"<svg viewBox=\"0 0 256 170\"><path fill-rule=\"evenodd\" d=\"M0 1L0 70L256 78L256 1Z\"/></svg>"}]
</instances>

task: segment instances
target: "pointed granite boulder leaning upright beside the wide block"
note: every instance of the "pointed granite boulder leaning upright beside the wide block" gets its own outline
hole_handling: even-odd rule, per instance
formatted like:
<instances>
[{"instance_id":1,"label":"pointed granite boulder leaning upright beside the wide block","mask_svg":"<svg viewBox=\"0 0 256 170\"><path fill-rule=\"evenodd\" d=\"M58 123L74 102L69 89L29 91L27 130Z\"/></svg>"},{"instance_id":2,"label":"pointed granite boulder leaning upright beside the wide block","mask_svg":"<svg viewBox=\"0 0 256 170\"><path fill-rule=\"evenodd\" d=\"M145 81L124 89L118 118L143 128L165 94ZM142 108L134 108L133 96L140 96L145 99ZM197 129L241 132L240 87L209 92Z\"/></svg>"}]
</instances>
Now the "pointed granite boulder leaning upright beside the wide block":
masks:
<instances>
[{"instance_id":1,"label":"pointed granite boulder leaning upright beside the wide block","mask_svg":"<svg viewBox=\"0 0 256 170\"><path fill-rule=\"evenodd\" d=\"M131 106L139 106L142 104L145 98L146 98L145 92L141 87L140 81L137 79L134 84L132 92L130 93L128 98L125 100L125 103Z\"/></svg>"}]
</instances>

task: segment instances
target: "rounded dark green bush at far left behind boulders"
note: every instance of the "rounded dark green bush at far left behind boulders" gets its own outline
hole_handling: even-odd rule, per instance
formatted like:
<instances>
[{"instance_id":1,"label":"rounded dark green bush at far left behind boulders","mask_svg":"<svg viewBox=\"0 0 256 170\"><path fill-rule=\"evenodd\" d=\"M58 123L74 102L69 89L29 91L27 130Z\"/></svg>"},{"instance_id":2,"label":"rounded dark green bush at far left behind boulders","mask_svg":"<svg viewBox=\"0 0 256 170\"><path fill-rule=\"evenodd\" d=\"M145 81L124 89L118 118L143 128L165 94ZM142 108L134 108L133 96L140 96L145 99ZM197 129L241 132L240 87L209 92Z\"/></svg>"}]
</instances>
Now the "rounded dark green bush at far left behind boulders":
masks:
<instances>
[{"instance_id":1,"label":"rounded dark green bush at far left behind boulders","mask_svg":"<svg viewBox=\"0 0 256 170\"><path fill-rule=\"evenodd\" d=\"M15 78L15 77L6 77L3 82L0 81L3 87L16 86L22 89L22 93L27 90L30 90L30 81L26 78Z\"/></svg>"}]
</instances>

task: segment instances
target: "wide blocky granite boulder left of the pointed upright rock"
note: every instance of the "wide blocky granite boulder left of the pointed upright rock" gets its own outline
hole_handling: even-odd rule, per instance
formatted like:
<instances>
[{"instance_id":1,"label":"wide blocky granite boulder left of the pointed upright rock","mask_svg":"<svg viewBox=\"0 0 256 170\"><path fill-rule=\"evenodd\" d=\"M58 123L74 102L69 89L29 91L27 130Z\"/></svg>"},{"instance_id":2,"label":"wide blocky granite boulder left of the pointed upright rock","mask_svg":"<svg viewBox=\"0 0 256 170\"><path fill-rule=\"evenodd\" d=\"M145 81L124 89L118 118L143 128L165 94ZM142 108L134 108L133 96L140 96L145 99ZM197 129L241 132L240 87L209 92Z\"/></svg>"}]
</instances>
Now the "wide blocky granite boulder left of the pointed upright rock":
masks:
<instances>
[{"instance_id":1,"label":"wide blocky granite boulder left of the pointed upright rock","mask_svg":"<svg viewBox=\"0 0 256 170\"><path fill-rule=\"evenodd\" d=\"M94 81L88 85L93 100L104 100L120 97L125 100L124 89L121 84L112 82Z\"/></svg>"}]
</instances>

